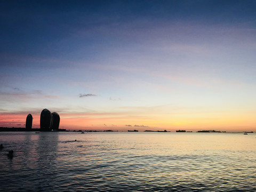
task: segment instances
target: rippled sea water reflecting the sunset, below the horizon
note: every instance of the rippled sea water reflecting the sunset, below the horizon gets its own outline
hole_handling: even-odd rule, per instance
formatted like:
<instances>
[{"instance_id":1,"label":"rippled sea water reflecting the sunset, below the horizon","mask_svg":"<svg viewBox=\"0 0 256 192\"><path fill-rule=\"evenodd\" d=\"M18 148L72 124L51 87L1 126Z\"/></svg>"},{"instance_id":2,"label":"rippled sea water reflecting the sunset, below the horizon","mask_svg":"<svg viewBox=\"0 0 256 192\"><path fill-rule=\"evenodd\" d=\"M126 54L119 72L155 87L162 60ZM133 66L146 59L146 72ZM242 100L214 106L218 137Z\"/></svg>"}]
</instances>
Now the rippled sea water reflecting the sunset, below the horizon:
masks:
<instances>
[{"instance_id":1,"label":"rippled sea water reflecting the sunset, below the horizon","mask_svg":"<svg viewBox=\"0 0 256 192\"><path fill-rule=\"evenodd\" d=\"M0 143L0 191L256 191L254 133L0 132Z\"/></svg>"}]
</instances>

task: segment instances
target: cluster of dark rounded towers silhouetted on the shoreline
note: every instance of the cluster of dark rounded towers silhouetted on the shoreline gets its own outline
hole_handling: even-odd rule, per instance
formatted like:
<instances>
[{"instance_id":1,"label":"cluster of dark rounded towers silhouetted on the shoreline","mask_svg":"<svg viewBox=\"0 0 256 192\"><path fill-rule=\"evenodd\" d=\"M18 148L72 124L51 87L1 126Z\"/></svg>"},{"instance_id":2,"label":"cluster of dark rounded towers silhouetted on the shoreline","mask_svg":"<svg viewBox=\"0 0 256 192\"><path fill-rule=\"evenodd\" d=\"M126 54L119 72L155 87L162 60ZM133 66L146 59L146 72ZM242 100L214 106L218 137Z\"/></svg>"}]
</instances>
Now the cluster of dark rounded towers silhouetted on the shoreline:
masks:
<instances>
[{"instance_id":1,"label":"cluster of dark rounded towers silhouetted on the shoreline","mask_svg":"<svg viewBox=\"0 0 256 192\"><path fill-rule=\"evenodd\" d=\"M26 130L31 130L33 117L28 114L26 119ZM60 116L58 113L51 113L48 109L43 109L40 116L40 129L42 131L58 130L60 125Z\"/></svg>"}]
</instances>

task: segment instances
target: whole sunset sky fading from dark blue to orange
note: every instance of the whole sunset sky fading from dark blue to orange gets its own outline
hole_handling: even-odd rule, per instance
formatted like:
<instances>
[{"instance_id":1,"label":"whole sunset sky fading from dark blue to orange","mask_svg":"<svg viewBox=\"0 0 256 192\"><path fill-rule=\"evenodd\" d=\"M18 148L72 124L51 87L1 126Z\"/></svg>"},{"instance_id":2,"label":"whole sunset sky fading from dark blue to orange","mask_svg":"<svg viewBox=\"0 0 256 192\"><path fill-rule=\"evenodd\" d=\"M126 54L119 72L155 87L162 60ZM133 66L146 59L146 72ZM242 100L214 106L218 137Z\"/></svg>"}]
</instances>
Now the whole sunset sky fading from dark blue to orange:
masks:
<instances>
[{"instance_id":1,"label":"whole sunset sky fading from dark blue to orange","mask_svg":"<svg viewBox=\"0 0 256 192\"><path fill-rule=\"evenodd\" d=\"M256 1L0 1L0 126L256 131Z\"/></svg>"}]
</instances>

